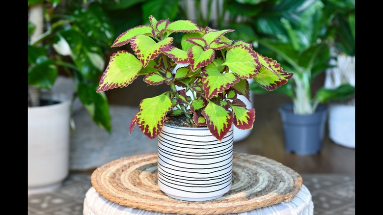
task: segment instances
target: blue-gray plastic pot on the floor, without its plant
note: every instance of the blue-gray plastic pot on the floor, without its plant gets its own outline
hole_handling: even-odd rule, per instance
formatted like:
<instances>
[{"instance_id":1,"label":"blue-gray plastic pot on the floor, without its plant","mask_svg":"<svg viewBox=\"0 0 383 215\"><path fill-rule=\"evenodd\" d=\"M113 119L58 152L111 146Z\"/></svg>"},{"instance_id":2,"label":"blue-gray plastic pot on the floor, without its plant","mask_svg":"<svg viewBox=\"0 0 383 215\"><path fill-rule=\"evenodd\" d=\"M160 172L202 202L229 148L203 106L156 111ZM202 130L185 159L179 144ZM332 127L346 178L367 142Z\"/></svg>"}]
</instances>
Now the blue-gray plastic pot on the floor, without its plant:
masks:
<instances>
[{"instance_id":1,"label":"blue-gray plastic pot on the floor, without its plant","mask_svg":"<svg viewBox=\"0 0 383 215\"><path fill-rule=\"evenodd\" d=\"M293 105L278 108L283 125L285 150L297 155L313 155L322 149L328 108L319 105L313 114L295 114Z\"/></svg>"}]
</instances>

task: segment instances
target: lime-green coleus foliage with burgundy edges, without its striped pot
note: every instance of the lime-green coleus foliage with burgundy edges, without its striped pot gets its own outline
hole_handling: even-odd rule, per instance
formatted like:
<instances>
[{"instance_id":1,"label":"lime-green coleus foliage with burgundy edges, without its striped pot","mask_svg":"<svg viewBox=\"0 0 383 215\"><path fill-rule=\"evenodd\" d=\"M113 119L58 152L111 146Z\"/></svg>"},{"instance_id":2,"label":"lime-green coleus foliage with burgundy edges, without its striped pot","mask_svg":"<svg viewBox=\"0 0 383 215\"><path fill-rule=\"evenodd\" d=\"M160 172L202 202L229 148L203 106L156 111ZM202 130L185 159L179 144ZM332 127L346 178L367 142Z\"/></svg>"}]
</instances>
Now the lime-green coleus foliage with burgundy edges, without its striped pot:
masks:
<instances>
[{"instance_id":1,"label":"lime-green coleus foliage with burgundy edges, without its striped pot","mask_svg":"<svg viewBox=\"0 0 383 215\"><path fill-rule=\"evenodd\" d=\"M97 88L102 92L126 87L141 75L150 85L169 85L168 91L140 102L130 133L137 125L154 139L166 116L185 114L188 123L207 127L222 140L232 125L242 130L253 128L255 109L247 109L237 98L243 95L250 100L248 79L272 91L293 75L275 60L255 52L251 44L227 38L225 34L232 29L202 28L190 20L157 21L153 16L149 20L150 24L117 37L112 47L130 43L134 54L124 50L112 54ZM181 47L175 47L170 37L176 32L183 33ZM174 70L177 64L182 66Z\"/></svg>"}]
</instances>

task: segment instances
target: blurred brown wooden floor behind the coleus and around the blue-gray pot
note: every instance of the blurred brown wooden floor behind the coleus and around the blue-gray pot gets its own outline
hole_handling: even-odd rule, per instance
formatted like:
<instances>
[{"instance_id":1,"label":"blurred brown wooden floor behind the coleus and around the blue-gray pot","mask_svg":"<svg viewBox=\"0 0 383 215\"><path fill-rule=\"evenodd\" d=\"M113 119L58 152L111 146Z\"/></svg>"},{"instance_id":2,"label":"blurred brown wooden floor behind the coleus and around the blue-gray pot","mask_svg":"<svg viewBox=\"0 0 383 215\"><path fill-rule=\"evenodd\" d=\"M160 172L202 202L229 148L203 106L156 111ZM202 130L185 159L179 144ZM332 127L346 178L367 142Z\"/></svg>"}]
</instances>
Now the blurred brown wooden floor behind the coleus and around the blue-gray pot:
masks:
<instances>
[{"instance_id":1,"label":"blurred brown wooden floor behind the coleus and around the blue-gray pot","mask_svg":"<svg viewBox=\"0 0 383 215\"><path fill-rule=\"evenodd\" d=\"M323 81L319 80L319 81ZM148 91L145 83L115 88L108 91L110 104L132 105L138 107L143 98L156 96L162 88ZM127 99L128 98L128 99ZM300 156L285 152L280 115L277 108L291 101L277 94L253 95L255 122L251 134L234 144L236 152L254 154L273 159L300 174L338 173L355 176L355 149L335 144L328 138L326 127L322 151L312 156Z\"/></svg>"}]
</instances>

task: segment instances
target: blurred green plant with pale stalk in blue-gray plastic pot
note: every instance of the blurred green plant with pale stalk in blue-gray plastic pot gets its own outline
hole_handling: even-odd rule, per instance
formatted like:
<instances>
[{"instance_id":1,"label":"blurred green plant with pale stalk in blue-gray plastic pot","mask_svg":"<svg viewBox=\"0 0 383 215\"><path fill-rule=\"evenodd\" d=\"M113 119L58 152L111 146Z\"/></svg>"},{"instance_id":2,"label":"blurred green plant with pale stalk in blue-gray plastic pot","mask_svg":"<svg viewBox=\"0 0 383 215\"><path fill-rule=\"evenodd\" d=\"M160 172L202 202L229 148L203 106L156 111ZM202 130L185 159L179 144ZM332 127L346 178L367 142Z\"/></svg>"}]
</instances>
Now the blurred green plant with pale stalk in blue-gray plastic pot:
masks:
<instances>
[{"instance_id":1,"label":"blurred green plant with pale stalk in blue-gray plastic pot","mask_svg":"<svg viewBox=\"0 0 383 215\"><path fill-rule=\"evenodd\" d=\"M298 155L320 152L327 122L327 107L324 104L332 99L346 99L355 92L349 84L336 89L321 87L313 92L314 78L330 67L331 59L326 40L327 17L323 16L323 8L321 1L315 1L301 13L294 25L287 19L281 19L284 33L282 31L283 36L279 38L283 40L272 36L258 40L260 52L279 59L287 71L294 72L292 80L273 93L292 99L292 104L283 105L278 110L286 151ZM275 35L281 34L280 30L274 32ZM267 92L257 84L250 84L250 90L255 94Z\"/></svg>"}]
</instances>

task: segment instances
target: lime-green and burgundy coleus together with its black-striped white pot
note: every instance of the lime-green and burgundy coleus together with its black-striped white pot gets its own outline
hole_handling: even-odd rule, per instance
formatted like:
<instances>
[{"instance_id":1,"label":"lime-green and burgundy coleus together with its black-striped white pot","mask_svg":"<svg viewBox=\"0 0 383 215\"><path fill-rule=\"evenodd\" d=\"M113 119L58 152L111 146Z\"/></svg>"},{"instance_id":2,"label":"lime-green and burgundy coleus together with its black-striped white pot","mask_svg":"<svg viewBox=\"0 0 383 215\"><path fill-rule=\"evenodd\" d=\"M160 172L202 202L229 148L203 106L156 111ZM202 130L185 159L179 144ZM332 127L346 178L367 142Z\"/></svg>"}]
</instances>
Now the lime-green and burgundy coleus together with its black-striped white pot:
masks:
<instances>
[{"instance_id":1,"label":"lime-green and burgundy coleus together with its black-striped white pot","mask_svg":"<svg viewBox=\"0 0 383 215\"><path fill-rule=\"evenodd\" d=\"M226 34L232 29L149 20L114 41L112 47L130 44L134 54L112 54L97 92L126 87L138 76L149 85L167 84L168 91L140 102L130 132L137 125L149 138L158 138L158 185L167 195L189 201L218 198L231 187L233 126L253 127L255 109L238 99L249 99L247 79L271 91L293 74L251 44L230 40ZM178 64L184 65L174 70ZM210 186L204 186L206 181Z\"/></svg>"}]
</instances>

